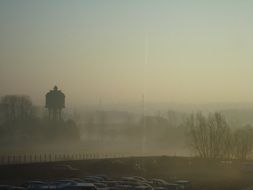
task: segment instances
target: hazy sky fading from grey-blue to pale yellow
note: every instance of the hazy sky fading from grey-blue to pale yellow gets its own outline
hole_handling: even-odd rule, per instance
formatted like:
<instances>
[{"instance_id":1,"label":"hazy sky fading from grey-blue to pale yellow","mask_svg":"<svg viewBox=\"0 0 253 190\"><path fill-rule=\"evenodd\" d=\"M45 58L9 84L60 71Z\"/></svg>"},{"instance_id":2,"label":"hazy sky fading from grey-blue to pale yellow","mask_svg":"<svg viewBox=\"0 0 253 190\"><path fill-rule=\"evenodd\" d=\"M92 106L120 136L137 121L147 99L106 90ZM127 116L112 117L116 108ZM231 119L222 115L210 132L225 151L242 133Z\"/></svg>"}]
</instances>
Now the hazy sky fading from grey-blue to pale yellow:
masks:
<instances>
[{"instance_id":1,"label":"hazy sky fading from grey-blue to pale yellow","mask_svg":"<svg viewBox=\"0 0 253 190\"><path fill-rule=\"evenodd\" d=\"M0 96L253 102L251 0L0 0Z\"/></svg>"}]
</instances>

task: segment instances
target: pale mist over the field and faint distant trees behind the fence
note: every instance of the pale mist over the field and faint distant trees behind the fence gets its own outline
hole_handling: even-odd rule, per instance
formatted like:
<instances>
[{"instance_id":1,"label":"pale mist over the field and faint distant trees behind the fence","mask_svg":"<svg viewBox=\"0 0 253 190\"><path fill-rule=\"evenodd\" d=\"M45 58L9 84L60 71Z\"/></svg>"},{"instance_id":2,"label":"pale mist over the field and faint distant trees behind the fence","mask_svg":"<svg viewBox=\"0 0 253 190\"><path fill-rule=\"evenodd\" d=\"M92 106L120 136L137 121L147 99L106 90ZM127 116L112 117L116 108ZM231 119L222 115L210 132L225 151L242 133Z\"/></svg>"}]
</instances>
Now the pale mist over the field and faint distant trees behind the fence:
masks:
<instances>
[{"instance_id":1,"label":"pale mist over the field and faint distant trees behind the fence","mask_svg":"<svg viewBox=\"0 0 253 190\"><path fill-rule=\"evenodd\" d=\"M48 113L44 107L35 105L35 110L36 117L47 120ZM27 138L24 132L17 133L16 137L12 135L11 140L9 136L7 139L2 138L1 152L3 154L91 152L191 156L194 154L189 145L189 128L185 124L187 118L192 113L202 112L208 115L215 111L224 115L232 130L247 125L253 126L251 117L253 107L243 103L90 104L83 107L68 107L63 111L65 121L75 122L79 130L77 139L74 137L72 140L67 140L63 137L59 140L57 138L38 140ZM1 116L1 124L4 126L4 115ZM53 130L53 126L49 132L50 130Z\"/></svg>"}]
</instances>

